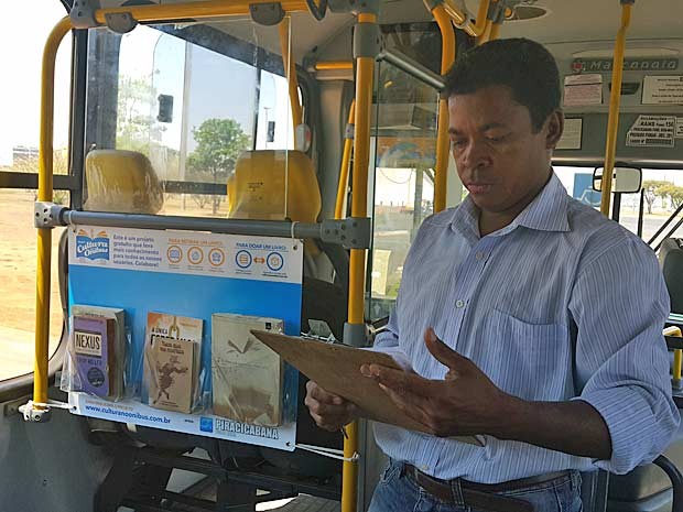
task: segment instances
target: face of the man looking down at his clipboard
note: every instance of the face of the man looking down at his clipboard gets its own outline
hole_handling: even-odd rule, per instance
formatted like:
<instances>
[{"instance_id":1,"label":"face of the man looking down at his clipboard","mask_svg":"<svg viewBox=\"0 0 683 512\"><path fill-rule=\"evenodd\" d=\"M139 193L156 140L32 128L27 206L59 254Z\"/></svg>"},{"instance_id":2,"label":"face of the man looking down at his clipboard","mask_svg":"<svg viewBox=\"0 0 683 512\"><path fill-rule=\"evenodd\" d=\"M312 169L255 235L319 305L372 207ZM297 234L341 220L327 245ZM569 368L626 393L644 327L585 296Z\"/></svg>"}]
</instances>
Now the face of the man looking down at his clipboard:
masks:
<instances>
[{"instance_id":1,"label":"face of the man looking down at his clipboard","mask_svg":"<svg viewBox=\"0 0 683 512\"><path fill-rule=\"evenodd\" d=\"M454 95L448 112L453 157L475 205L494 214L525 206L548 179L562 116L551 116L534 133L529 109L506 86Z\"/></svg>"}]
</instances>

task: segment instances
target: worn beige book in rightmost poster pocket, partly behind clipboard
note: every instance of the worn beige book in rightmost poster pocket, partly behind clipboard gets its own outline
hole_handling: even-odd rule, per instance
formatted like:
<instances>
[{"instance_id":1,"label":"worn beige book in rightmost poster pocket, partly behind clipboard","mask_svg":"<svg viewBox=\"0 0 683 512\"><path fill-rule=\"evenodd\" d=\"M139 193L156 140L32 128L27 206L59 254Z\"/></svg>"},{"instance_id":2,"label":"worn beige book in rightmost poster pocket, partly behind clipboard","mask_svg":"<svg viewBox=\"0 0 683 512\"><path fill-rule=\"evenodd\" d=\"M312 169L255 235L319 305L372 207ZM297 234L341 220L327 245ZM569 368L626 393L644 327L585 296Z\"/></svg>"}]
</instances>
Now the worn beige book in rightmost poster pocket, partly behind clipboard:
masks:
<instances>
[{"instance_id":1,"label":"worn beige book in rightmost poster pocket, partly behind clipboard","mask_svg":"<svg viewBox=\"0 0 683 512\"><path fill-rule=\"evenodd\" d=\"M284 367L251 329L282 333L278 318L216 313L212 316L214 414L240 423L282 423Z\"/></svg>"}]
</instances>

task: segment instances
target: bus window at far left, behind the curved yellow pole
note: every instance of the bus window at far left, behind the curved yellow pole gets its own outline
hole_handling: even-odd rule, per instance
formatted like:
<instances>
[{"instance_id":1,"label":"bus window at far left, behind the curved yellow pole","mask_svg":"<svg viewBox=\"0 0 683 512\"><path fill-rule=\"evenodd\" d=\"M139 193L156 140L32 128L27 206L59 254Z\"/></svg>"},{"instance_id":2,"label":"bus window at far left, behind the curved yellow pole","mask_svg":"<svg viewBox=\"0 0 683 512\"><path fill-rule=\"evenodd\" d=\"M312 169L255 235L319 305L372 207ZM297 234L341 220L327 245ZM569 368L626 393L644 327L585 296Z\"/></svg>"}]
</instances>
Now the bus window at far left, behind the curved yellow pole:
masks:
<instances>
[{"instance_id":1,"label":"bus window at far left, behind the curved yellow pole","mask_svg":"<svg viewBox=\"0 0 683 512\"><path fill-rule=\"evenodd\" d=\"M32 28L17 20L23 4L4 6L0 21L0 46L14 48L0 54L6 72L0 95L0 380L33 370L35 331L36 230L33 203L37 186L41 58L47 34L65 15L58 2L34 3ZM62 43L55 75L54 172L68 172L68 109L71 37ZM55 190L54 201L68 206L68 190ZM52 232L52 292L50 348L54 353L62 337L63 315L57 274L57 246L64 228Z\"/></svg>"}]
</instances>

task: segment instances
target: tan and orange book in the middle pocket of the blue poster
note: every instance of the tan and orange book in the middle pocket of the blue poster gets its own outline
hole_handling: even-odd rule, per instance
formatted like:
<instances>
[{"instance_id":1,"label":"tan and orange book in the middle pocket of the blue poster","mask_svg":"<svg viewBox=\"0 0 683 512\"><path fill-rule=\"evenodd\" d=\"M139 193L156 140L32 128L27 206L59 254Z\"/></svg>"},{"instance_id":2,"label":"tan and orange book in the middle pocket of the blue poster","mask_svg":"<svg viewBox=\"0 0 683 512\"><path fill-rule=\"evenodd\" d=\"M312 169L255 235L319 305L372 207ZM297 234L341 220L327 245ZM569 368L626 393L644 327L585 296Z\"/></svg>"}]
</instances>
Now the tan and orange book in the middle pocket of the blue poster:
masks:
<instances>
[{"instance_id":1,"label":"tan and orange book in the middle pocket of the blue poster","mask_svg":"<svg viewBox=\"0 0 683 512\"><path fill-rule=\"evenodd\" d=\"M203 320L148 313L143 380L152 407L192 413L198 400Z\"/></svg>"}]
</instances>

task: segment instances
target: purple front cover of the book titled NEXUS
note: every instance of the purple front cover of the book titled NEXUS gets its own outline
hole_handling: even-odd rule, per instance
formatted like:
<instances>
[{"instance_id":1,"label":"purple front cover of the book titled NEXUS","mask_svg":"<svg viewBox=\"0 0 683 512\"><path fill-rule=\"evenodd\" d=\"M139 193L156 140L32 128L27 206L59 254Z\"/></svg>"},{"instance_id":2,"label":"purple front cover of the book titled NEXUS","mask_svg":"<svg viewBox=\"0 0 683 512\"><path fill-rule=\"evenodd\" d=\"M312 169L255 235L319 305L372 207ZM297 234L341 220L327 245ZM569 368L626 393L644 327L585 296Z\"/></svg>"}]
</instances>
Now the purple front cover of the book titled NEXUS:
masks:
<instances>
[{"instance_id":1,"label":"purple front cover of the book titled NEXUS","mask_svg":"<svg viewBox=\"0 0 683 512\"><path fill-rule=\"evenodd\" d=\"M80 391L108 397L111 394L110 364L116 339L116 320L74 316L73 349Z\"/></svg>"}]
</instances>

